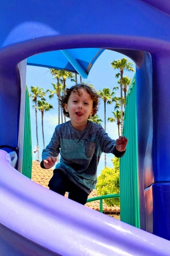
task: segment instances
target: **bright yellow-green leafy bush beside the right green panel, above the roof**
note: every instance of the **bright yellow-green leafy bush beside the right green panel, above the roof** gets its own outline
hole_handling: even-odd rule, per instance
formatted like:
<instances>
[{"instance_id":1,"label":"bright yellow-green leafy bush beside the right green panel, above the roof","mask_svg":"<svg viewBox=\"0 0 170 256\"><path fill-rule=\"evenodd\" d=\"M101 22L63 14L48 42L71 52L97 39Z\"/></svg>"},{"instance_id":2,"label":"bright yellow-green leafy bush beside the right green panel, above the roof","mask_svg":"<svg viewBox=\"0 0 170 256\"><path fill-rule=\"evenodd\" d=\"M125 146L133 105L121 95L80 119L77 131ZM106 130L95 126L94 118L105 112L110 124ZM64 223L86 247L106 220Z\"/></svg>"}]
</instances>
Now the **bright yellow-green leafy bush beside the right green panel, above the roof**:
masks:
<instances>
[{"instance_id":1,"label":"bright yellow-green leafy bush beside the right green panel, above the roof","mask_svg":"<svg viewBox=\"0 0 170 256\"><path fill-rule=\"evenodd\" d=\"M111 159L113 168L105 167L98 176L96 189L98 195L110 195L119 193L119 158ZM119 199L105 199L108 206L120 206Z\"/></svg>"}]
</instances>

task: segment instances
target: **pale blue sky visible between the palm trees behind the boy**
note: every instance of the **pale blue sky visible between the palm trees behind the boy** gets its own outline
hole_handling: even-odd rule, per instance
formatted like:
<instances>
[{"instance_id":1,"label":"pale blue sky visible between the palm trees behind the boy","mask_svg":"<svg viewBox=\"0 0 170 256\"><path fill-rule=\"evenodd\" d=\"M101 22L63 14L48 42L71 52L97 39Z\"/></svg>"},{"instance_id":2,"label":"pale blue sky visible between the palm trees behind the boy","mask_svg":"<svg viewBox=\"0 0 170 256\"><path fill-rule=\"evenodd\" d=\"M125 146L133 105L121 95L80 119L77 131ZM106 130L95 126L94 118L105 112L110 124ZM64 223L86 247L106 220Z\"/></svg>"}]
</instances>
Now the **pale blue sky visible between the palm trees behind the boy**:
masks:
<instances>
[{"instance_id":1,"label":"pale blue sky visible between the palm trees behind the boy","mask_svg":"<svg viewBox=\"0 0 170 256\"><path fill-rule=\"evenodd\" d=\"M115 74L118 73L118 71L115 71L113 68L111 68L111 62L113 60L122 59L122 57L126 57L126 59L133 63L131 59L129 59L127 56L122 55L121 53L117 53L110 50L105 50L101 56L97 59L96 63L94 63L92 69L90 70L88 79L82 79L83 82L88 82L89 84L92 84L96 90L103 89L103 88L110 88L111 90L114 88L114 86L117 86L117 80L115 78ZM134 64L134 63L133 63ZM135 69L135 64L134 64ZM123 76L133 77L134 73L132 72L124 72ZM78 82L80 82L79 76ZM34 66L27 66L27 88L28 91L31 93L30 87L31 86L39 86L39 88L43 88L44 91L47 89L53 89L52 82L55 83L56 80L52 78L51 73L49 72L48 68L43 67L34 67ZM74 82L67 81L67 87L71 87L74 85ZM117 91L119 95L119 90ZM55 127L58 122L58 115L57 115L57 98L54 97L51 100L46 97L47 102L53 104L54 109L50 110L47 113L44 113L44 137L45 137L45 146L49 143L51 140L53 131L55 130ZM32 136L32 159L36 160L36 154L34 153L34 147L36 146L36 126L35 126L35 109L32 108L32 101L30 98L30 114L31 114L31 136ZM106 105L106 119L108 117L113 117L113 114L111 113L114 111L114 104ZM101 125L104 127L104 108L103 108L103 102L101 100L99 104L99 110L98 113L99 117L102 119ZM40 146L40 160L42 160L42 150L43 150L43 139L42 139L42 116L41 113L38 112L38 137L39 137L39 146ZM110 123L106 122L106 132L109 134L109 136L112 139L118 138L118 128L116 123ZM107 154L107 167L113 167L113 164L111 162L111 159L114 156L112 154ZM101 173L101 170L105 166L105 160L104 160L104 153L101 156L97 174L99 175Z\"/></svg>"}]
</instances>

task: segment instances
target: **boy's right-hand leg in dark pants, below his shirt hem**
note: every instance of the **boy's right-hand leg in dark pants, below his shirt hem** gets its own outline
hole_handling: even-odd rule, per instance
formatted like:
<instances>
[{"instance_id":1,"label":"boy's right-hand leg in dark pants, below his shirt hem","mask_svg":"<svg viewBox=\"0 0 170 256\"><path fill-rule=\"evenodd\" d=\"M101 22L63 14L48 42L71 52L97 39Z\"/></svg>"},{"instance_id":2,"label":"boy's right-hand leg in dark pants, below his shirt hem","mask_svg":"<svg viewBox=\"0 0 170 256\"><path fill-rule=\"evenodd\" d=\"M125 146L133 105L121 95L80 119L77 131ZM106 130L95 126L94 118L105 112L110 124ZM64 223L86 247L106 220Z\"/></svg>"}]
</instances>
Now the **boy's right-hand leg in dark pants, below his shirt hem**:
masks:
<instances>
[{"instance_id":1,"label":"boy's right-hand leg in dark pants, below his shirt hem","mask_svg":"<svg viewBox=\"0 0 170 256\"><path fill-rule=\"evenodd\" d=\"M77 203L86 204L86 201L88 199L88 193L86 193L83 189L81 189L71 181L69 186L68 198L76 201Z\"/></svg>"}]
</instances>

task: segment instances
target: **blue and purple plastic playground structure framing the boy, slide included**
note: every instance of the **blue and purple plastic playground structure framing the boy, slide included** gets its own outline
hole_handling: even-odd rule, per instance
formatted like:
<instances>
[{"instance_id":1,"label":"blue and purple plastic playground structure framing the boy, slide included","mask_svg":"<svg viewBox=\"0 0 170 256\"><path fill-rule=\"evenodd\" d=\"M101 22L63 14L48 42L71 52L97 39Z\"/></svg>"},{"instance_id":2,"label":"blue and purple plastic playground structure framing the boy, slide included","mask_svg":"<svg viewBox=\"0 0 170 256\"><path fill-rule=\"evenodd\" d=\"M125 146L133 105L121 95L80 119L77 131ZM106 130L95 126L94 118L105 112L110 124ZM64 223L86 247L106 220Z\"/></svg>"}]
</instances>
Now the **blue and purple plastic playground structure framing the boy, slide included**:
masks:
<instances>
[{"instance_id":1,"label":"blue and purple plastic playground structure framing the boy, slide included","mask_svg":"<svg viewBox=\"0 0 170 256\"><path fill-rule=\"evenodd\" d=\"M0 13L1 254L169 255L169 1L37 0L23 6L21 0L5 0ZM78 48L111 49L136 64L140 229L55 195L21 174L27 59L59 50L69 58L68 49ZM82 63L72 61L83 77ZM7 154L13 151L15 168ZM131 187L133 179L129 182ZM69 213L57 209L57 201L67 203Z\"/></svg>"}]
</instances>

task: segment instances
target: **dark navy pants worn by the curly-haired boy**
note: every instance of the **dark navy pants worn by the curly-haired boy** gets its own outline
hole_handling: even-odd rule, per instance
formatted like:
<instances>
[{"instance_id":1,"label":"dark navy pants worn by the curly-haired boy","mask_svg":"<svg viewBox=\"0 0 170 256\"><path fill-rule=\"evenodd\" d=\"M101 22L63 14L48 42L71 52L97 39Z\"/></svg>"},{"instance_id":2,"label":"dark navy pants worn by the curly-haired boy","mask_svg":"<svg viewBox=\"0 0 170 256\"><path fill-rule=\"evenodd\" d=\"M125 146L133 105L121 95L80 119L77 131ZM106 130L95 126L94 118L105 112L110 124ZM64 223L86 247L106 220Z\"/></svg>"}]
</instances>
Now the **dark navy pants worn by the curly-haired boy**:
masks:
<instances>
[{"instance_id":1,"label":"dark navy pants worn by the curly-haired boy","mask_svg":"<svg viewBox=\"0 0 170 256\"><path fill-rule=\"evenodd\" d=\"M59 169L53 170L53 176L51 180L49 180L48 187L63 196L65 192L69 192L68 198L80 204L85 204L88 199L88 193L74 184L73 181Z\"/></svg>"}]
</instances>

